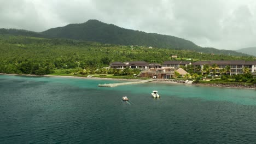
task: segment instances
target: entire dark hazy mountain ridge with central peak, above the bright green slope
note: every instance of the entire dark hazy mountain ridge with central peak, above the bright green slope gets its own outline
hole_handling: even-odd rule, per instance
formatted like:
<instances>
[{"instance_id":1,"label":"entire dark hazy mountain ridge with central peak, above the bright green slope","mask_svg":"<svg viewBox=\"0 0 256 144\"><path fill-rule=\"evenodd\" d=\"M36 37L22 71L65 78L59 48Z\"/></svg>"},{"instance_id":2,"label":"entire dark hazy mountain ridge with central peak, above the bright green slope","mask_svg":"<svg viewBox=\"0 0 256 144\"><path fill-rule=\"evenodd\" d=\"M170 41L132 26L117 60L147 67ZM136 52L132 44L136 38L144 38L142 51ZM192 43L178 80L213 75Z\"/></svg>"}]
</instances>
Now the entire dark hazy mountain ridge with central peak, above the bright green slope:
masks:
<instances>
[{"instance_id":1,"label":"entire dark hazy mountain ridge with central peak, above the bright green slope","mask_svg":"<svg viewBox=\"0 0 256 144\"><path fill-rule=\"evenodd\" d=\"M89 20L85 23L69 24L56 27L47 31L36 33L17 29L0 29L0 34L26 35L32 37L64 38L119 45L152 46L176 50L191 50L219 55L247 56L231 50L218 50L212 47L200 47L189 40L171 35L146 33L131 29L121 28L98 20Z\"/></svg>"}]
</instances>

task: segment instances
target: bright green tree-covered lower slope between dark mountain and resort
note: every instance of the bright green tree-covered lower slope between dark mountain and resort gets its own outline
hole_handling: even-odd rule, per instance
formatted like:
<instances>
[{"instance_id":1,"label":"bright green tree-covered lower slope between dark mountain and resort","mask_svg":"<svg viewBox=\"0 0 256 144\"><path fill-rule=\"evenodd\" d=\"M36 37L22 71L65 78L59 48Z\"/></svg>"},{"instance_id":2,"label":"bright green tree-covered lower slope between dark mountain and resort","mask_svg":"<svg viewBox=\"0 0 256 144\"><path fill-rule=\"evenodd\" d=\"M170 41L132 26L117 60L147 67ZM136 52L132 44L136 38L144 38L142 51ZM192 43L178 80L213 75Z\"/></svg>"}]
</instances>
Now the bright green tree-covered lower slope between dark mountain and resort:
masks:
<instances>
[{"instance_id":1,"label":"bright green tree-covered lower slope between dark mountain and resort","mask_svg":"<svg viewBox=\"0 0 256 144\"><path fill-rule=\"evenodd\" d=\"M101 44L67 39L46 39L0 34L0 73L44 75L54 69L106 67L110 62L146 61L149 63L243 59L255 57L211 55L188 50L148 49L148 47ZM79 65L79 66L78 66Z\"/></svg>"}]
</instances>

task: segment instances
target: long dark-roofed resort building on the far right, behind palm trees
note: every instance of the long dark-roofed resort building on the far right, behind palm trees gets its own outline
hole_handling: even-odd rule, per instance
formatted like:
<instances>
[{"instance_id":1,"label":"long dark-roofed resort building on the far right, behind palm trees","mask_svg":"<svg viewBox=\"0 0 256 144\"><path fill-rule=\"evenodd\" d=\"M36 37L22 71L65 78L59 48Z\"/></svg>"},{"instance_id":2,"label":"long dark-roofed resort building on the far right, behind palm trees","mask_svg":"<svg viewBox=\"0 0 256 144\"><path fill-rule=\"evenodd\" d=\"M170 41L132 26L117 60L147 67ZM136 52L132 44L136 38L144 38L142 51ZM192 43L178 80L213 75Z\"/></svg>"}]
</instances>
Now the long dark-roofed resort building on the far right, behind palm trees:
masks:
<instances>
[{"instance_id":1,"label":"long dark-roofed resort building on the far right, behind palm trees","mask_svg":"<svg viewBox=\"0 0 256 144\"><path fill-rule=\"evenodd\" d=\"M237 74L243 74L244 68L248 68L250 73L253 73L256 71L256 61L243 61L243 60L235 60L235 61L198 61L192 63L194 67L199 68L199 71L202 71L202 73L205 73L203 71L203 65L209 65L212 67L212 65L217 65L216 67L216 73L220 74L221 69L226 69L226 66L229 65L230 70L226 71L229 75L237 75ZM210 74L212 74L213 71L210 71Z\"/></svg>"}]
</instances>

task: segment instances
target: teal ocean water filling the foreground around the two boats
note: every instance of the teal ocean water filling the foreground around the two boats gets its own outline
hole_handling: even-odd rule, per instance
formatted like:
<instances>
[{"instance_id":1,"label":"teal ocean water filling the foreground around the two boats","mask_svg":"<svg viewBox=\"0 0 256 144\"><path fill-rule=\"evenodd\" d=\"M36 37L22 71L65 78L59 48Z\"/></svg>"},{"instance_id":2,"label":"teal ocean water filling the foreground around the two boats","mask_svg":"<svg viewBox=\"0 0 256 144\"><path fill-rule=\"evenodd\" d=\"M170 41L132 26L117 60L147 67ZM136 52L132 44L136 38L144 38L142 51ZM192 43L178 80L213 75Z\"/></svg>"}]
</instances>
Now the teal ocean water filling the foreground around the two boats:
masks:
<instances>
[{"instance_id":1,"label":"teal ocean water filling the foreground around the two boats","mask_svg":"<svg viewBox=\"0 0 256 144\"><path fill-rule=\"evenodd\" d=\"M255 89L113 82L0 75L0 143L256 143Z\"/></svg>"}]
</instances>

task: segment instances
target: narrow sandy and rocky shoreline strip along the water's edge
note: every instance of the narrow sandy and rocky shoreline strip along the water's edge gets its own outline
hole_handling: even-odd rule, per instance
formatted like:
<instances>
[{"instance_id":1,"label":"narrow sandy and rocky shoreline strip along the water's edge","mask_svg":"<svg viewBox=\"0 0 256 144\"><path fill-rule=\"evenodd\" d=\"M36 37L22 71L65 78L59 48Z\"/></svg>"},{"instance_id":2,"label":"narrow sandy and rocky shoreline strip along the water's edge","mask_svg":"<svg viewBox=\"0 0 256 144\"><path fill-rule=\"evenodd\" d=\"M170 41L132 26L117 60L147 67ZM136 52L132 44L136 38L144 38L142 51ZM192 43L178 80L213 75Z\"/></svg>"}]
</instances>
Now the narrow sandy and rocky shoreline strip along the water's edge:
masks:
<instances>
[{"instance_id":1,"label":"narrow sandy and rocky shoreline strip along the water's edge","mask_svg":"<svg viewBox=\"0 0 256 144\"><path fill-rule=\"evenodd\" d=\"M88 79L88 80L116 80L116 81L141 81L139 79L114 79L114 78L103 78L103 77L82 77L82 76L62 76L62 75L30 75L30 74L4 74L0 73L0 75L14 75L14 76L35 76L35 77L63 77L63 78L74 78L74 79ZM206 87L220 87L220 88L239 88L239 89L256 89L254 87L242 86L242 85L222 85L222 84L209 84L209 83L195 83L195 84L187 84L182 82L175 81L153 81L155 83L167 83L167 84L175 84L175 85L192 85L192 86L206 86Z\"/></svg>"}]
</instances>

